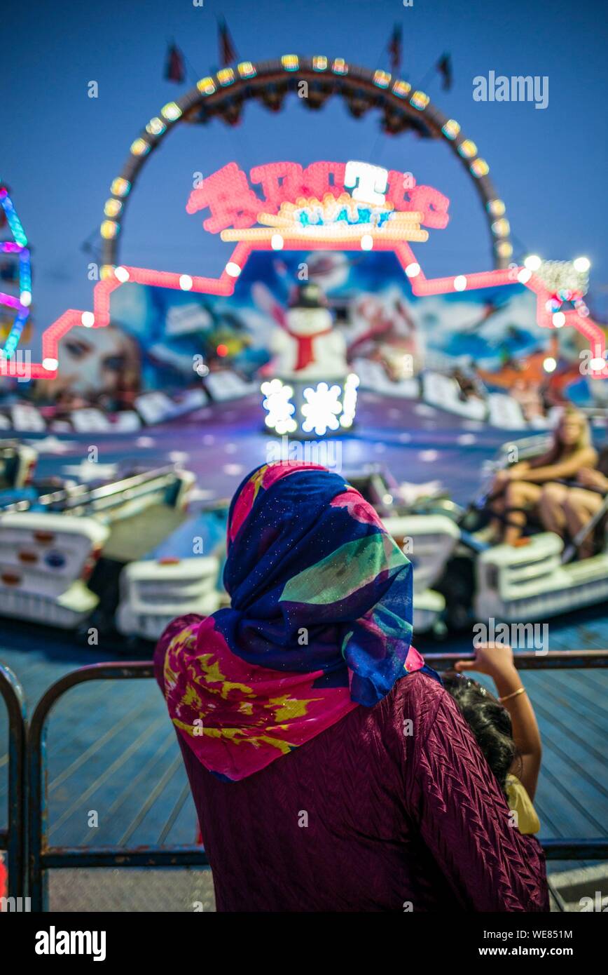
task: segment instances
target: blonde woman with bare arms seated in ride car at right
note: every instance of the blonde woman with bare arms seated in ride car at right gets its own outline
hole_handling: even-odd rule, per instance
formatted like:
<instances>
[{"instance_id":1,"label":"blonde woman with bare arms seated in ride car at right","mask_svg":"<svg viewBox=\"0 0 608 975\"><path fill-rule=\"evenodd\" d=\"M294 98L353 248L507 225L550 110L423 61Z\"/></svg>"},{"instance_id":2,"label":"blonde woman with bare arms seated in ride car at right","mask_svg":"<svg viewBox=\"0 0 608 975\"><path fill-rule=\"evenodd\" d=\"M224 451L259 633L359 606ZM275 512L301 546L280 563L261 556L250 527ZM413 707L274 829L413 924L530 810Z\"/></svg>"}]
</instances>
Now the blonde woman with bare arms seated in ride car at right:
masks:
<instances>
[{"instance_id":1,"label":"blonde woman with bare arms seated in ride car at right","mask_svg":"<svg viewBox=\"0 0 608 975\"><path fill-rule=\"evenodd\" d=\"M559 503L555 503L557 496L576 484L583 468L593 469L596 462L587 417L574 407L566 407L547 453L513 464L496 475L490 492L490 507L496 516L491 523L491 540L519 544L531 514L547 531L561 535L565 520Z\"/></svg>"}]
</instances>

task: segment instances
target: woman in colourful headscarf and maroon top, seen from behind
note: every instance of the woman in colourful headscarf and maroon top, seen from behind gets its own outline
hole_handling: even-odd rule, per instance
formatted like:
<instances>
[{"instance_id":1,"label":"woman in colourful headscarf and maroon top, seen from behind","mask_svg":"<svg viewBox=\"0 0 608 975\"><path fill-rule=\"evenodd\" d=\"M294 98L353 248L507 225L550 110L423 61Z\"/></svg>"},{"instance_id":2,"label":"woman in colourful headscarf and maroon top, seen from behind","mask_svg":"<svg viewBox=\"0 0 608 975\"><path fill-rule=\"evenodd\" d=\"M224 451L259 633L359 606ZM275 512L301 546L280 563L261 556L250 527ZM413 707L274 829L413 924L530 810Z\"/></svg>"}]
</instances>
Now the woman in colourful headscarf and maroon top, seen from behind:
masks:
<instances>
[{"instance_id":1,"label":"woman in colourful headscarf and maroon top, seen from behind","mask_svg":"<svg viewBox=\"0 0 608 975\"><path fill-rule=\"evenodd\" d=\"M412 565L359 491L263 465L227 549L231 605L154 657L217 910L548 911L542 849L411 646Z\"/></svg>"}]
</instances>

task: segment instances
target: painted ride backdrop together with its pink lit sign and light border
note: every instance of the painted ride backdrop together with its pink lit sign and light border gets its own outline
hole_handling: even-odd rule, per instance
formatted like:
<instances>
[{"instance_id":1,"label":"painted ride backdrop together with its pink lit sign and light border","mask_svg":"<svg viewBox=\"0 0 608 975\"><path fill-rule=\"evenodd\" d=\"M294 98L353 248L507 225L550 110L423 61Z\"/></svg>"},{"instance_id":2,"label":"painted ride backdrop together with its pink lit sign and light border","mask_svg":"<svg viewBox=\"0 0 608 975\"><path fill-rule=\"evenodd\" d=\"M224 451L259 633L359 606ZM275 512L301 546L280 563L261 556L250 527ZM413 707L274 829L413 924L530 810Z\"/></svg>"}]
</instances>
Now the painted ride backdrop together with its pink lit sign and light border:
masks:
<instances>
[{"instance_id":1,"label":"painted ride backdrop together with its pink lit sign and light border","mask_svg":"<svg viewBox=\"0 0 608 975\"><path fill-rule=\"evenodd\" d=\"M465 403L474 413L471 401L504 392L530 422L566 397L581 405L606 397L596 381L608 376L605 334L583 301L587 259L533 256L507 268L503 255L493 271L428 279L418 263L426 228L446 226L449 200L412 174L361 161L283 162L254 167L249 179L228 164L196 185L186 206L191 215L209 210L204 228L236 244L220 277L104 265L93 310L66 310L42 335L42 361L16 372L35 380L36 400L124 409L139 393L179 393L227 368L243 388L243 379L278 368L269 362L272 332L285 328L303 282L326 295L362 388L441 406L449 387L453 408ZM128 192L118 182L116 191ZM493 232L503 233L503 202L487 206ZM104 221L102 235L117 233L116 221ZM15 360L5 365L18 370ZM331 375L332 363L326 368Z\"/></svg>"}]
</instances>

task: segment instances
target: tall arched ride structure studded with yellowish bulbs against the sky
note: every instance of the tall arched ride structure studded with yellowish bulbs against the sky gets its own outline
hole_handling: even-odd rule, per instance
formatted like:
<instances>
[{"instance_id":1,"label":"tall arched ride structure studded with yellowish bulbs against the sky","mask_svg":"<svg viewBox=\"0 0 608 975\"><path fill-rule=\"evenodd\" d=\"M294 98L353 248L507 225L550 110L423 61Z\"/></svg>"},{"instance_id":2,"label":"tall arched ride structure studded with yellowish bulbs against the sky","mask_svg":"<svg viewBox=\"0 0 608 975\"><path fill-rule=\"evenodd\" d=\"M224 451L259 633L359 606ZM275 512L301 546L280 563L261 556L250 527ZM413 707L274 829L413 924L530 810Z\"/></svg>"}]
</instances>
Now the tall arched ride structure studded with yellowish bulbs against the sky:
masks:
<instances>
[{"instance_id":1,"label":"tall arched ride structure studded with yellowish bulbs against the sky","mask_svg":"<svg viewBox=\"0 0 608 975\"><path fill-rule=\"evenodd\" d=\"M463 135L455 119L447 118L424 92L414 90L408 82L386 71L369 71L341 58L284 55L257 63L241 61L235 67L222 68L215 75L201 78L182 98L170 101L150 119L133 140L120 175L112 181L111 196L105 201L101 223L103 273L110 273L120 262L121 227L137 176L150 154L176 125L181 122L208 125L215 118L237 125L247 101L255 99L270 111L278 112L289 92L296 93L298 101L311 110L320 109L328 98L340 96L355 118L377 109L387 133L398 135L412 131L422 138L446 142L475 184L488 225L494 266L508 266L513 247L505 204L497 197L488 176L488 164L477 154L475 142Z\"/></svg>"}]
</instances>

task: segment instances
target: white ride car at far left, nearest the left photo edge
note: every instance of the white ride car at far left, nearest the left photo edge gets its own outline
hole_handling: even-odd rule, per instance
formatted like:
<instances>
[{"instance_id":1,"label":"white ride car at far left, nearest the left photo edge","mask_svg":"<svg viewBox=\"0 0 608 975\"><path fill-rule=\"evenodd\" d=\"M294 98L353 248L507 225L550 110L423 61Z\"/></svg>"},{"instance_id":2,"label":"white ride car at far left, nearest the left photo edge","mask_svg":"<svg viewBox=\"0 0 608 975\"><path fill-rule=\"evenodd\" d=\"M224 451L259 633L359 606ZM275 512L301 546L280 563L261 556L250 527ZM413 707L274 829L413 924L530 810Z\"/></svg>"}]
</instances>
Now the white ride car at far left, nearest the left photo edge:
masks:
<instances>
[{"instance_id":1,"label":"white ride car at far left, nearest the left photo edge","mask_svg":"<svg viewBox=\"0 0 608 975\"><path fill-rule=\"evenodd\" d=\"M95 487L11 487L20 494L0 509L0 615L111 628L120 572L184 520L194 480L171 466Z\"/></svg>"}]
</instances>

